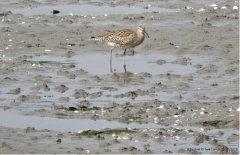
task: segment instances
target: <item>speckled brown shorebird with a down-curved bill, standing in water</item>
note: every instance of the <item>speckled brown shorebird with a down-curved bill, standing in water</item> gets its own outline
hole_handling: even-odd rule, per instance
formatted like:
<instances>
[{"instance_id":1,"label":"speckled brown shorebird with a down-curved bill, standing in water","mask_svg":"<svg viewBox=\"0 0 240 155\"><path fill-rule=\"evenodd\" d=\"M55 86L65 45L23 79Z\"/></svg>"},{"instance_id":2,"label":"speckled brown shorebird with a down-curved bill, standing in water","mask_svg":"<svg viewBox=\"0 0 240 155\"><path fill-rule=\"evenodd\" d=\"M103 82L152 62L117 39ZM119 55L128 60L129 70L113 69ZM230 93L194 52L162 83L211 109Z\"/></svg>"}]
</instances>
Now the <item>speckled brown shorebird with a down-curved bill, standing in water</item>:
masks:
<instances>
[{"instance_id":1,"label":"speckled brown shorebird with a down-curved bill, standing in water","mask_svg":"<svg viewBox=\"0 0 240 155\"><path fill-rule=\"evenodd\" d=\"M96 36L96 37L91 37L90 40L98 40L98 41L106 41L108 45L113 46L113 48L110 50L111 55L110 55L110 67L112 67L112 51L113 49L119 47L124 49L124 69L126 72L126 65L125 65L125 55L126 55L126 50L130 48L134 48L138 45L140 45L144 41L145 37L145 27L144 26L139 26L137 31L134 30L129 30L129 29L123 29L123 30L118 30L114 31L108 34ZM148 38L149 35L147 34ZM110 68L110 71L112 72L112 68Z\"/></svg>"}]
</instances>

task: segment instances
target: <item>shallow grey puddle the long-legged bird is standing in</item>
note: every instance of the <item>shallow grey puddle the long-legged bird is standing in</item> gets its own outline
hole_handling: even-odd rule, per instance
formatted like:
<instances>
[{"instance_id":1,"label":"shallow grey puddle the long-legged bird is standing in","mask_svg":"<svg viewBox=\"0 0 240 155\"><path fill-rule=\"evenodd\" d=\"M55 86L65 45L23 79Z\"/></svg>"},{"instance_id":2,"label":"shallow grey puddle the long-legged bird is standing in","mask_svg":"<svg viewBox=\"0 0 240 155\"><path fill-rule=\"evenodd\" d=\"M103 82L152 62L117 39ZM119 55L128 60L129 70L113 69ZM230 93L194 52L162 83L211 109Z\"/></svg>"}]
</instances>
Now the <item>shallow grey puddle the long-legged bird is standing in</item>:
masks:
<instances>
[{"instance_id":1,"label":"shallow grey puddle the long-legged bird is standing in","mask_svg":"<svg viewBox=\"0 0 240 155\"><path fill-rule=\"evenodd\" d=\"M166 61L164 64L158 65L157 60L162 59ZM177 59L171 55L134 55L125 56L125 64L127 72L138 74L141 72L147 72L152 75L164 74L171 72L172 74L184 75L194 73L197 69L190 64L174 64L171 63ZM74 63L76 67L85 70L88 74L92 75L106 75L111 74L110 72L110 54L94 54L94 55L76 55L71 58L65 57L51 57L41 55L39 57L33 57L28 61L52 61L59 63ZM194 62L195 63L195 62ZM114 57L112 58L113 72L124 72L123 68L124 58Z\"/></svg>"}]
</instances>

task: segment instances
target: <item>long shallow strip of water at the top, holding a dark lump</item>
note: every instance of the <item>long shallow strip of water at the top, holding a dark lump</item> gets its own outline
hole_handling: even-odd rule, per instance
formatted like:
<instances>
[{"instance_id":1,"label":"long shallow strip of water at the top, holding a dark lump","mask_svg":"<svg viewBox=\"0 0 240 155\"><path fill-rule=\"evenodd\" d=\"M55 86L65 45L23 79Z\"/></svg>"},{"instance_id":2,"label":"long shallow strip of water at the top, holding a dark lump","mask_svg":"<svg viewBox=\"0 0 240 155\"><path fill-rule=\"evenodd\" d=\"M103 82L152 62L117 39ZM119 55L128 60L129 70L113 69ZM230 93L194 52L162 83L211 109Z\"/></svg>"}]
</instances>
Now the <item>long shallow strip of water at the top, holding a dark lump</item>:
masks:
<instances>
[{"instance_id":1,"label":"long shallow strip of water at the top, holding a dark lump","mask_svg":"<svg viewBox=\"0 0 240 155\"><path fill-rule=\"evenodd\" d=\"M59 6L39 6L37 8L21 8L21 9L11 9L14 14L23 14L24 16L32 15L51 15L53 10L58 10L60 13L58 15L105 15L105 14L139 14L144 12L175 12L175 9L166 9L159 7L149 7L148 9L137 8L134 6L125 7L109 7L109 6L92 6L92 5L59 5Z\"/></svg>"}]
</instances>

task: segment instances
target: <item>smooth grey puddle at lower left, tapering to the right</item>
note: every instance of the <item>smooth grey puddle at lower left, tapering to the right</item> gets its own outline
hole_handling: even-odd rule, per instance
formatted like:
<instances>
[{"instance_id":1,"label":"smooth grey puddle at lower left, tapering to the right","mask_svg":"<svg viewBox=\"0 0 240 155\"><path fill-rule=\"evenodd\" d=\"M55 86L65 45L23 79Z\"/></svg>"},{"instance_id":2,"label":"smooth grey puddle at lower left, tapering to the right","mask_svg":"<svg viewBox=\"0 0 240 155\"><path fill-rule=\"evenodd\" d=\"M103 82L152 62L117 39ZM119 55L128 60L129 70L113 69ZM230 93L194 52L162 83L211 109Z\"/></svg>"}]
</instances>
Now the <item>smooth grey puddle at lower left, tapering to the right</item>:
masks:
<instances>
[{"instance_id":1,"label":"smooth grey puddle at lower left, tapering to the right","mask_svg":"<svg viewBox=\"0 0 240 155\"><path fill-rule=\"evenodd\" d=\"M102 130L104 128L159 128L163 127L158 124L123 124L117 121L104 121L104 120L90 120L90 119L59 119L39 116L23 116L18 115L16 112L2 111L0 112L0 124L5 127L12 128L26 128L34 126L36 129L49 129L62 132L78 132L79 130ZM6 121L8 118L11 121Z\"/></svg>"}]
</instances>

